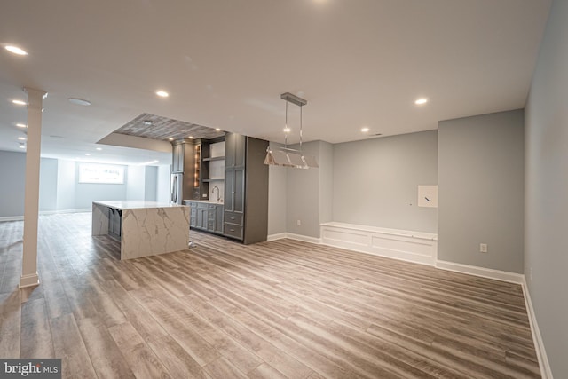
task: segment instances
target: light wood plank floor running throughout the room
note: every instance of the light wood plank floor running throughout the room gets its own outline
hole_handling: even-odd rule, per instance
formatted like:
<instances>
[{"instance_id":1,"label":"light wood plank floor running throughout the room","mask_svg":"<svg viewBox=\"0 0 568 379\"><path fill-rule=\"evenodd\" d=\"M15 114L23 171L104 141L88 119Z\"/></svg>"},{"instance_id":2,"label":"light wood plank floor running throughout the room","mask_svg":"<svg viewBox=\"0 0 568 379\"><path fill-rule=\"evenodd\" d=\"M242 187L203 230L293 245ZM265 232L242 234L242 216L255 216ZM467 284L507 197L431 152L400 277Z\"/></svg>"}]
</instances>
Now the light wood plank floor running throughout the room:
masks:
<instances>
[{"instance_id":1,"label":"light wood plank floor running throughout the room","mask_svg":"<svg viewBox=\"0 0 568 379\"><path fill-rule=\"evenodd\" d=\"M0 357L70 378L540 377L519 286L342 249L197 248L131 261L91 215L40 217L41 285L18 290L0 223Z\"/></svg>"}]
</instances>

